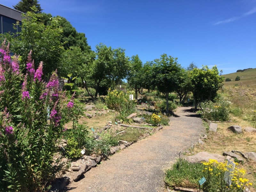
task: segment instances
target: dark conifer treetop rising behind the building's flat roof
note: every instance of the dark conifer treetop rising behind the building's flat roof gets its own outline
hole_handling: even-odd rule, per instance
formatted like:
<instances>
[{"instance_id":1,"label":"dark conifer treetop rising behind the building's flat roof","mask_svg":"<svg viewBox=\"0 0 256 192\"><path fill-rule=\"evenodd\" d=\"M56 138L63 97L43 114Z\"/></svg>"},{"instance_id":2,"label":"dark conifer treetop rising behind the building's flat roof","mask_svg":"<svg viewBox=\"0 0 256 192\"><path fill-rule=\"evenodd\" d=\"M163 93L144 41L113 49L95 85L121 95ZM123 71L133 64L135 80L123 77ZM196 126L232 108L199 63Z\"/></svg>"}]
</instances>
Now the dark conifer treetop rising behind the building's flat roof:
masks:
<instances>
[{"instance_id":1,"label":"dark conifer treetop rising behind the building's flat roof","mask_svg":"<svg viewBox=\"0 0 256 192\"><path fill-rule=\"evenodd\" d=\"M33 6L36 7L36 10L32 9ZM14 5L13 8L23 13L27 13L27 12L41 13L43 11L43 9L41 9L41 6L37 0L21 0L19 1L19 3Z\"/></svg>"}]
</instances>

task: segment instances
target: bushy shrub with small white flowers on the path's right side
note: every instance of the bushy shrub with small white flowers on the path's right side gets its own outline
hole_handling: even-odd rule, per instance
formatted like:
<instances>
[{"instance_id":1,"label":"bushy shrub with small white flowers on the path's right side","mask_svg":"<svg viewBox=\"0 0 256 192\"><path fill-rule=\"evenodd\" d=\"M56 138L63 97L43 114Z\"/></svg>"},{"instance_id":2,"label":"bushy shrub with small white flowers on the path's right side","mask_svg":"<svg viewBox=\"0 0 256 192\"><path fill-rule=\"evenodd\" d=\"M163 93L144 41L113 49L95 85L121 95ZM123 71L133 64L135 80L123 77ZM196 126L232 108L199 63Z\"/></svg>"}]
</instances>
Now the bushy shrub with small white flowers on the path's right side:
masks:
<instances>
[{"instance_id":1,"label":"bushy shrub with small white flowers on the path's right side","mask_svg":"<svg viewBox=\"0 0 256 192\"><path fill-rule=\"evenodd\" d=\"M202 110L198 111L197 114L201 114L202 118L210 121L228 121L229 111L231 102L220 98L217 103L209 101L201 104Z\"/></svg>"}]
</instances>

